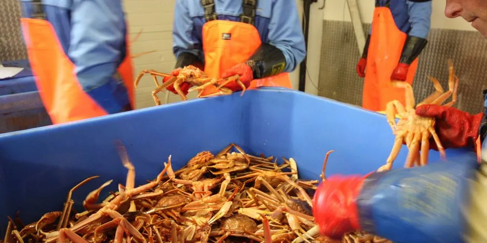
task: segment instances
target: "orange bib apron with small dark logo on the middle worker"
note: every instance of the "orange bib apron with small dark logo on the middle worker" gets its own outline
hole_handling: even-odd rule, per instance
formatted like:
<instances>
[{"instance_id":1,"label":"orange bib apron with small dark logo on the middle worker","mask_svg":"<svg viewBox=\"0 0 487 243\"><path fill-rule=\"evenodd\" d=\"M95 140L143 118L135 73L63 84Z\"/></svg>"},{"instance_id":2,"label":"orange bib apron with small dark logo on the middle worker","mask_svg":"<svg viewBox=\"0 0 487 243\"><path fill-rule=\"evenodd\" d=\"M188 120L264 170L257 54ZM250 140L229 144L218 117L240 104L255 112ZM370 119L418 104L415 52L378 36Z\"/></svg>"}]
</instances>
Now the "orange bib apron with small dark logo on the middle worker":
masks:
<instances>
[{"instance_id":1,"label":"orange bib apron with small dark logo on the middle worker","mask_svg":"<svg viewBox=\"0 0 487 243\"><path fill-rule=\"evenodd\" d=\"M245 1L243 1L243 4L243 7L245 7ZM213 19L210 19L208 16L213 17ZM230 67L247 61L260 47L262 41L260 40L259 32L252 24L217 20L214 16L216 16L216 14L214 14L214 9L210 9L210 12L206 12L207 21L203 25L202 44L203 53L205 55L204 70L210 77L221 78L223 72ZM273 66L272 69L273 73L279 74L262 79L254 79L250 82L248 89L256 89L263 86L285 87L291 89L292 86L289 73L282 72L284 66L276 65ZM210 85L205 88L202 95L205 96L217 92L218 90L216 87Z\"/></svg>"}]
</instances>

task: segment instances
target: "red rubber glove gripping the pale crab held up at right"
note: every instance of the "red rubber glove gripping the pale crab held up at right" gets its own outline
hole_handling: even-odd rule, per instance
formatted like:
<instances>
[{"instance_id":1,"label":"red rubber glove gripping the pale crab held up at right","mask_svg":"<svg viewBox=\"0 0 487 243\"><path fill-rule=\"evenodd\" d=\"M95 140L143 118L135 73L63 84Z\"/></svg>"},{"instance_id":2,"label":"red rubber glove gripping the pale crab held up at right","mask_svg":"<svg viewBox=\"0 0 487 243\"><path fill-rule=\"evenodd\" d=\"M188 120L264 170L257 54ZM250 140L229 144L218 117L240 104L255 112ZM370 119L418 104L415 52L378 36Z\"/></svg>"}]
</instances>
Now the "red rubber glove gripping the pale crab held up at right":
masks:
<instances>
[{"instance_id":1,"label":"red rubber glove gripping the pale crab held up at right","mask_svg":"<svg viewBox=\"0 0 487 243\"><path fill-rule=\"evenodd\" d=\"M416 115L436 119L436 133L444 148L470 147L475 149L483 113L470 115L453 107L422 105ZM436 143L430 138L430 147L436 151Z\"/></svg>"}]
</instances>

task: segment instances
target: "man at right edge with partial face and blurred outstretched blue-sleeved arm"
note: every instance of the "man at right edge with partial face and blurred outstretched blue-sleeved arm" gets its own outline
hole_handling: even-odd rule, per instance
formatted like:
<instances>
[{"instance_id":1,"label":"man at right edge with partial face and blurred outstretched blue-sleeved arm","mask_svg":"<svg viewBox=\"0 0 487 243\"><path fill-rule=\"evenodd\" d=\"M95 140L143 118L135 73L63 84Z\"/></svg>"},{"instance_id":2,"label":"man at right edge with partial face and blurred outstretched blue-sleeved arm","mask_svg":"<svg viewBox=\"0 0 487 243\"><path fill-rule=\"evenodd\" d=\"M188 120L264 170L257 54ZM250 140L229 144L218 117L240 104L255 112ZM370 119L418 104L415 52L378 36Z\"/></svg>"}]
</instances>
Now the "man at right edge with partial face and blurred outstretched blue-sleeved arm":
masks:
<instances>
[{"instance_id":1,"label":"man at right edge with partial face and blurred outstretched blue-sleeved arm","mask_svg":"<svg viewBox=\"0 0 487 243\"><path fill-rule=\"evenodd\" d=\"M487 39L487 0L446 2L447 17L463 17ZM466 155L424 167L332 176L313 198L322 234L365 230L395 243L487 242L487 90L483 113L421 105L416 115L435 118L445 148L478 150L482 142L481 165ZM434 142L430 146L437 150Z\"/></svg>"}]
</instances>

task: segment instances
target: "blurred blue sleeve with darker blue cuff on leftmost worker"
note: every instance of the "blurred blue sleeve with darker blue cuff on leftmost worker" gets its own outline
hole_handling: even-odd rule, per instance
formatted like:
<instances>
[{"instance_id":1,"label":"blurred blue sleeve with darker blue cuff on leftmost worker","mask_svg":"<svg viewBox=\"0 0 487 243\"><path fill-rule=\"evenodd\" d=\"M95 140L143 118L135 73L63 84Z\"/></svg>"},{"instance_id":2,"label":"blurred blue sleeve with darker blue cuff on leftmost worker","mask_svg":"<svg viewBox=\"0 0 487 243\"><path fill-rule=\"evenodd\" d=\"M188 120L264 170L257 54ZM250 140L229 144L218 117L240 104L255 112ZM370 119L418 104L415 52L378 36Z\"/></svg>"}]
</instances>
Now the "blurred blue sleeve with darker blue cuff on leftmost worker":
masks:
<instances>
[{"instance_id":1,"label":"blurred blue sleeve with darker blue cuff on leftmost worker","mask_svg":"<svg viewBox=\"0 0 487 243\"><path fill-rule=\"evenodd\" d=\"M68 56L83 90L108 113L129 103L123 82L114 78L125 58L126 25L121 0L73 0Z\"/></svg>"}]
</instances>

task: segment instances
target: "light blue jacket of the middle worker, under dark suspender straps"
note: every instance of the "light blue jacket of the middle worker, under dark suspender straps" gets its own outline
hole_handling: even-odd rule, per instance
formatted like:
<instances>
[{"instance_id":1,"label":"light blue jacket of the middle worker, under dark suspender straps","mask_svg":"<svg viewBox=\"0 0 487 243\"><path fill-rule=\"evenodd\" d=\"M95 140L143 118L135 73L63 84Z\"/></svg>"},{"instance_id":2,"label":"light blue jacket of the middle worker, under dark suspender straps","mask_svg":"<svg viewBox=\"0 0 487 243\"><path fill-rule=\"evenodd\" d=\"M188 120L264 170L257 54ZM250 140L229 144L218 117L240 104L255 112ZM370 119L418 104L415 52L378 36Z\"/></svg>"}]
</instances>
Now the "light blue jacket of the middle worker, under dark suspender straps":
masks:
<instances>
[{"instance_id":1,"label":"light blue jacket of the middle worker, under dark suspender straps","mask_svg":"<svg viewBox=\"0 0 487 243\"><path fill-rule=\"evenodd\" d=\"M293 71L306 56L301 22L295 0L260 0L257 2L255 24L262 43L282 51L286 58L285 72ZM239 21L242 0L215 0L219 20ZM206 20L200 0L176 0L172 30L173 52L176 58L190 52L204 63L202 27Z\"/></svg>"}]
</instances>

